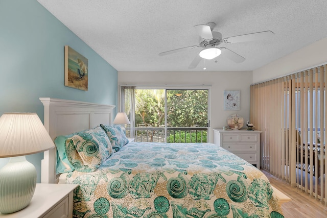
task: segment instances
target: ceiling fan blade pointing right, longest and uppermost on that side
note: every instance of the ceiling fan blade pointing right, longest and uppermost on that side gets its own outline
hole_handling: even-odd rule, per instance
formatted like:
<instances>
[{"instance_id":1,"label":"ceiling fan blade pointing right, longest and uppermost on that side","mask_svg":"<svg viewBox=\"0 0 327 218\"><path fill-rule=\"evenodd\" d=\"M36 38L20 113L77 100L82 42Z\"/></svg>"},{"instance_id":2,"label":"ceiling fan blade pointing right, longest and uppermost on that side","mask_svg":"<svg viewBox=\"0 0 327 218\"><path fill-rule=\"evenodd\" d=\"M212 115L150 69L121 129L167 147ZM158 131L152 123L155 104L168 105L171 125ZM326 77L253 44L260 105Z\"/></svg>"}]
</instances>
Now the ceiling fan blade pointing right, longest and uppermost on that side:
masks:
<instances>
[{"instance_id":1,"label":"ceiling fan blade pointing right, longest and uppermost on that side","mask_svg":"<svg viewBox=\"0 0 327 218\"><path fill-rule=\"evenodd\" d=\"M230 43L237 43L237 42L256 41L256 40L268 39L268 38L272 37L273 35L274 35L274 33L272 31L249 33L249 34L245 34L245 35L224 38L223 42L230 44Z\"/></svg>"}]
</instances>

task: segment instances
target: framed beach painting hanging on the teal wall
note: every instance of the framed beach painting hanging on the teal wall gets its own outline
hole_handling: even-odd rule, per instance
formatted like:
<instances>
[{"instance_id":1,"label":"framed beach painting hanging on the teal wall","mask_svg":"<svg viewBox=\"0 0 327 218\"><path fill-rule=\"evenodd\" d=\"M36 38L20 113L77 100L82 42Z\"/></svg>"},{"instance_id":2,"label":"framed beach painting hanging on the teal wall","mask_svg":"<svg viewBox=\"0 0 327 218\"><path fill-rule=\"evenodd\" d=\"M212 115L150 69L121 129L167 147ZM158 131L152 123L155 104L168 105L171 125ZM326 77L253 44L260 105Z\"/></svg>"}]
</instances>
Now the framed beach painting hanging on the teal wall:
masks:
<instances>
[{"instance_id":1,"label":"framed beach painting hanging on the teal wall","mask_svg":"<svg viewBox=\"0 0 327 218\"><path fill-rule=\"evenodd\" d=\"M65 45L65 86L88 90L88 60Z\"/></svg>"}]
</instances>

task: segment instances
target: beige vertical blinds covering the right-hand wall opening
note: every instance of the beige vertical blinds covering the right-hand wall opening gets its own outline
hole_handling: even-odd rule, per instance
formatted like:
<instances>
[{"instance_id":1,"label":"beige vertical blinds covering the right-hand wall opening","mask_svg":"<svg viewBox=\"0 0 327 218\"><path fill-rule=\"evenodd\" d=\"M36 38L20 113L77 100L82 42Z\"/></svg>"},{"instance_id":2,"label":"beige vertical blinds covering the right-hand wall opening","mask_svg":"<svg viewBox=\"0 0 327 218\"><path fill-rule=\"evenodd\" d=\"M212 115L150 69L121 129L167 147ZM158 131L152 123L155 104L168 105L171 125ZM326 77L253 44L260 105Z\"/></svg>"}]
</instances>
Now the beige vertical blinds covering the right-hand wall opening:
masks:
<instances>
[{"instance_id":1,"label":"beige vertical blinds covering the right-hand wall opening","mask_svg":"<svg viewBox=\"0 0 327 218\"><path fill-rule=\"evenodd\" d=\"M251 123L262 131L262 168L325 205L326 66L254 84L250 89Z\"/></svg>"}]
</instances>

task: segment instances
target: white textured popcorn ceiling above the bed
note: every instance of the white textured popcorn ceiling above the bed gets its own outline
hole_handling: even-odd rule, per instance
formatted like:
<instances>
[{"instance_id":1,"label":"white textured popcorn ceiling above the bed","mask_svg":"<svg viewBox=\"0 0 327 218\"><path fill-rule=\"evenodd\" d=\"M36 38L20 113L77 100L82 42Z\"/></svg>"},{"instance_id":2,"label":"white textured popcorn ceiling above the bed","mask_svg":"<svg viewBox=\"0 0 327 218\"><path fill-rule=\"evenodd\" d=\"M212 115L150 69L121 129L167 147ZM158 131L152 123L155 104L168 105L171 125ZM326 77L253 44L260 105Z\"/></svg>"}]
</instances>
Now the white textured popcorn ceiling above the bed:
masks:
<instances>
[{"instance_id":1,"label":"white textured popcorn ceiling above the bed","mask_svg":"<svg viewBox=\"0 0 327 218\"><path fill-rule=\"evenodd\" d=\"M37 1L118 71L190 71L198 49L158 54L198 45L194 26L207 22L215 22L223 38L267 30L275 35L223 44L246 60L202 59L195 71L257 69L327 37L325 0Z\"/></svg>"}]
</instances>

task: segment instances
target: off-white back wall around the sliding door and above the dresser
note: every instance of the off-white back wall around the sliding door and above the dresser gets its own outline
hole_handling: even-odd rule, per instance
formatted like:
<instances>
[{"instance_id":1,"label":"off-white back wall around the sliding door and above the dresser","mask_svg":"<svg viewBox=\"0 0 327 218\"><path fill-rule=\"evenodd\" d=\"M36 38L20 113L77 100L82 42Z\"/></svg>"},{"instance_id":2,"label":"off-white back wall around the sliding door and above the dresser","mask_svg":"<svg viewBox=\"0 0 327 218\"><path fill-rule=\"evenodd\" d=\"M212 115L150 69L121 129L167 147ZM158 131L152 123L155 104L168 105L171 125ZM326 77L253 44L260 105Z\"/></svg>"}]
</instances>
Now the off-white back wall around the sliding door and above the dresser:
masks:
<instances>
[{"instance_id":1,"label":"off-white back wall around the sliding door and above the dresser","mask_svg":"<svg viewBox=\"0 0 327 218\"><path fill-rule=\"evenodd\" d=\"M163 86L210 86L211 128L226 126L231 114L240 114L245 122L250 117L250 85L252 71L189 71L189 72L118 72L119 85L146 87ZM224 90L240 90L240 110L223 109ZM212 131L209 132L212 142Z\"/></svg>"}]
</instances>

